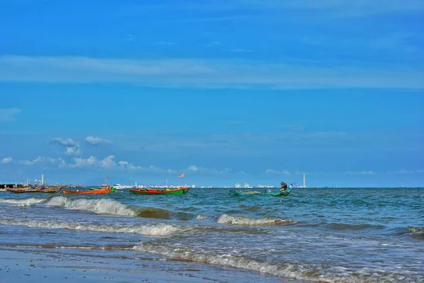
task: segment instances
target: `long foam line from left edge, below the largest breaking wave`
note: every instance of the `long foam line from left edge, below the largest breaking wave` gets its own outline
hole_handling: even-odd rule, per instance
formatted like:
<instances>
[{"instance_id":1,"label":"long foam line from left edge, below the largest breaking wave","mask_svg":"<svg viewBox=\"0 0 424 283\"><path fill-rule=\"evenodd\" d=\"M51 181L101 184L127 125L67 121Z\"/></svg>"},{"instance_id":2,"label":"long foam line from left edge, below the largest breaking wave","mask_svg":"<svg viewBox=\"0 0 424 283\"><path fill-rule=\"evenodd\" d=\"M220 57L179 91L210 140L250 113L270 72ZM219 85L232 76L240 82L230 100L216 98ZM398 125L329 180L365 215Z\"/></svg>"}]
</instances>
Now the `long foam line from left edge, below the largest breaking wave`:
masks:
<instances>
[{"instance_id":1,"label":"long foam line from left edge, below the largest breaking wave","mask_svg":"<svg viewBox=\"0 0 424 283\"><path fill-rule=\"evenodd\" d=\"M69 229L76 231L90 231L102 233L136 233L143 236L167 236L174 233L178 229L172 225L159 223L154 225L138 225L138 226L110 226L106 224L81 224L81 223L66 223L57 221L17 221L0 219L1 225L27 226L30 228L44 229Z\"/></svg>"}]
</instances>

